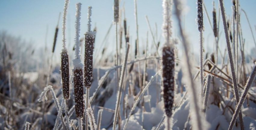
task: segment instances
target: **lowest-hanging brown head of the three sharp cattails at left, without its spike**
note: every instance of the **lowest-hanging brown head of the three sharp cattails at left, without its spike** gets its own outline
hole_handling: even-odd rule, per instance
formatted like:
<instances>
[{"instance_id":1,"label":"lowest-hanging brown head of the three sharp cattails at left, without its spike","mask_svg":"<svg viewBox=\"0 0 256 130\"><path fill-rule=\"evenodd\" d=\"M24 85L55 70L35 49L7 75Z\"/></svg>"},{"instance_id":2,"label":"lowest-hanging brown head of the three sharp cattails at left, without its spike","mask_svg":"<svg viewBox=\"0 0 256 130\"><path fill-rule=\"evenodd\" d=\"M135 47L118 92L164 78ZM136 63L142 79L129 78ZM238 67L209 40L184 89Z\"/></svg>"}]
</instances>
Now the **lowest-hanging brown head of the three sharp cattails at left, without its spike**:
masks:
<instances>
[{"instance_id":1,"label":"lowest-hanging brown head of the three sharp cattails at left, without its spike","mask_svg":"<svg viewBox=\"0 0 256 130\"><path fill-rule=\"evenodd\" d=\"M83 101L83 71L82 68L74 68L74 93L76 117L83 118L84 101Z\"/></svg>"}]
</instances>

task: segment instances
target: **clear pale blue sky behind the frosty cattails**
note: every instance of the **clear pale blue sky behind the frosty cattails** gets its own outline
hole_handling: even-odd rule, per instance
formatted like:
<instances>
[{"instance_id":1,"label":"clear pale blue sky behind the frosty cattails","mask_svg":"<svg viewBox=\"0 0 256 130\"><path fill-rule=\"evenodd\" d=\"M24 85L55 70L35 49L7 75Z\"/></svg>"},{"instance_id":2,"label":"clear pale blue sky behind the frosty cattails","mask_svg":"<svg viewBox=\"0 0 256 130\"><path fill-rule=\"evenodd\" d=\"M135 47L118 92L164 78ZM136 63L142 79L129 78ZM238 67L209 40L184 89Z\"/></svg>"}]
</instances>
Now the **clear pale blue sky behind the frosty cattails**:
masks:
<instances>
[{"instance_id":1,"label":"clear pale blue sky behind the frosty cattails","mask_svg":"<svg viewBox=\"0 0 256 130\"><path fill-rule=\"evenodd\" d=\"M215 1L215 7L217 8L217 0ZM227 17L231 16L231 0L224 0L224 6L226 8ZM74 45L75 37L75 3L82 3L81 12L81 34L86 32L87 24L87 6L92 6L92 28L97 27L97 34L95 40L95 49L102 48L102 41L113 21L113 5L114 0L71 0L67 14L67 45L70 44L69 53ZM206 9L212 20L212 0L204 0ZM249 21L253 28L254 36L256 37L255 27L256 24L256 1L255 0L240 0L240 6L244 9L248 15ZM47 46L51 50L54 39L55 27L58 22L59 13L63 12L64 0L1 0L0 1L0 31L7 31L14 36L20 36L26 41L32 41L33 47L42 48L45 46L45 34L48 26ZM134 18L134 1L133 0L121 0L120 8L125 7L125 17L127 24L130 26L130 41L133 50L136 38L135 18ZM184 19L184 28L189 36L191 43L191 50L197 54L198 49L198 29L195 24L196 14L196 1L186 1L186 11ZM145 47L146 32L149 31L145 15L148 15L148 19L151 24L153 32L156 32L155 24L157 25L158 40L163 41L161 38L161 26L162 26L162 1L161 0L137 0L138 8L138 25L139 25L139 46ZM61 14L62 16L62 14ZM221 18L221 17L220 17ZM176 32L176 16L172 15L173 19L173 36L177 36ZM217 9L218 20L218 9ZM122 20L123 24L123 20ZM250 52L251 48L255 47L249 25L246 21L245 15L241 15L241 26L243 37L246 39L245 47L246 51ZM210 24L207 20L206 13L204 12L204 47L206 51L211 51L213 48L213 32ZM61 52L61 20L59 22L59 33L56 45L55 58L60 56ZM220 47L224 50L226 46L226 40L223 32L223 23L220 20ZM149 33L149 47L153 44L151 34ZM107 53L113 53L115 49L115 30L114 26L111 28L108 41L103 45L107 46ZM124 39L124 38L123 38ZM150 49L150 48L149 48ZM181 45L178 45L178 49L182 49ZM142 51L142 49L140 49ZM101 52L101 50L99 51ZM113 53L114 54L114 53ZM57 58L58 59L58 58Z\"/></svg>"}]
</instances>

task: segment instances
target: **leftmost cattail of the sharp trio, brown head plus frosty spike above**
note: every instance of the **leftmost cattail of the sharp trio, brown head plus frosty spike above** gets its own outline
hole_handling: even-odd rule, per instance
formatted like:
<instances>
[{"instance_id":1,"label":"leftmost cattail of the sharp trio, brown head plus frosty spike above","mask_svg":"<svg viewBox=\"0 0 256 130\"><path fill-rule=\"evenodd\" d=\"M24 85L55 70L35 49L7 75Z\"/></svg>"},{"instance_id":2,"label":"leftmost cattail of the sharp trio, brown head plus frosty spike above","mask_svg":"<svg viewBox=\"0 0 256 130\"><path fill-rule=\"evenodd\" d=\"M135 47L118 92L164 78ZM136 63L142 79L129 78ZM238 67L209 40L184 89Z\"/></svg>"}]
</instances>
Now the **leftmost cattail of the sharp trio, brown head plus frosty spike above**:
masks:
<instances>
[{"instance_id":1,"label":"leftmost cattail of the sharp trio, brown head plus frosty spike above","mask_svg":"<svg viewBox=\"0 0 256 130\"><path fill-rule=\"evenodd\" d=\"M65 99L69 98L69 60L68 52L66 48L66 20L67 20L67 8L69 0L65 0L63 16L62 16L62 51L61 51L61 80L62 91Z\"/></svg>"}]
</instances>

